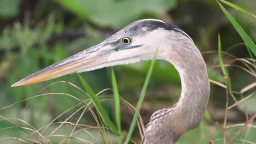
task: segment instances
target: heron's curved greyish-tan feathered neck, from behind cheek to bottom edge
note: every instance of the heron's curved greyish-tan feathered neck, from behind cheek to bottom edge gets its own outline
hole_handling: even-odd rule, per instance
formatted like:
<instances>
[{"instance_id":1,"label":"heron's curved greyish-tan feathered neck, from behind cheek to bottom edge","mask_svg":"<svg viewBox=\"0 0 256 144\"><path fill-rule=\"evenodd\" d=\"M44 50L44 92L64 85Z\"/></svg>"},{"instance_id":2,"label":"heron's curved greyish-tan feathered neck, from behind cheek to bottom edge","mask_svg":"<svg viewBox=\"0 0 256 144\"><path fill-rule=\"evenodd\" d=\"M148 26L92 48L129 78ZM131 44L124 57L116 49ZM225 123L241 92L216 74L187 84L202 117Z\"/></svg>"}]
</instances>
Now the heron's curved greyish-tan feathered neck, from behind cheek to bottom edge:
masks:
<instances>
[{"instance_id":1,"label":"heron's curved greyish-tan feathered neck, from behind cheek to bottom edge","mask_svg":"<svg viewBox=\"0 0 256 144\"><path fill-rule=\"evenodd\" d=\"M210 96L206 64L191 39L185 35L169 33L171 38L160 44L158 59L174 65L182 82L178 103L159 115L153 113L143 137L143 143L176 143L186 131L195 128L205 113ZM156 118L157 117L157 118ZM160 137L160 139L156 139Z\"/></svg>"}]
</instances>

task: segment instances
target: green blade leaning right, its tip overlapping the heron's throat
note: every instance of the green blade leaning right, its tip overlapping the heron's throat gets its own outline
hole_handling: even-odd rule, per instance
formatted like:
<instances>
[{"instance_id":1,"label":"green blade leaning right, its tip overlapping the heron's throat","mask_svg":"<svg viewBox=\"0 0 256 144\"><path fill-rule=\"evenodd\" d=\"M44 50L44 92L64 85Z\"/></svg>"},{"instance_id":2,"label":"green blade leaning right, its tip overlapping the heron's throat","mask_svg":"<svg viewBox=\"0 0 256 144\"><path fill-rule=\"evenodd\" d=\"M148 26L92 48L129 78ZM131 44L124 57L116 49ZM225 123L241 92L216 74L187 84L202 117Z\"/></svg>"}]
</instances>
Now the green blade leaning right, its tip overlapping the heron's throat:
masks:
<instances>
[{"instance_id":1,"label":"green blade leaning right, its tip overlapping the heron's throat","mask_svg":"<svg viewBox=\"0 0 256 144\"><path fill-rule=\"evenodd\" d=\"M160 45L160 43L159 43ZM148 74L146 76L146 80L144 82L144 85L142 87L142 90L141 90L141 95L139 95L139 100L138 100L138 104L136 106L136 111L134 113L134 116L133 116L133 119L132 119L132 123L131 123L131 126L130 126L130 129L129 129L129 132L127 134L127 137L125 139L125 142L124 144L128 144L130 139L131 139L131 136L132 136L132 133L133 133L133 130L135 128L135 125L136 125L136 121L137 121L137 117L138 117L138 113L139 113L139 110L141 109L141 105L142 105L142 102L143 102L143 99L145 97L145 94L146 94L146 90L147 90L147 87L148 87L148 83L149 83L149 80L150 80L150 77L152 75L152 71L153 71L153 68L154 68L154 64L155 64L155 59L156 59L156 56L158 54L158 49L159 49L159 45L158 47L156 48L156 53L154 55L154 59L153 61L150 63L150 67L149 67L149 70L148 70Z\"/></svg>"}]
</instances>

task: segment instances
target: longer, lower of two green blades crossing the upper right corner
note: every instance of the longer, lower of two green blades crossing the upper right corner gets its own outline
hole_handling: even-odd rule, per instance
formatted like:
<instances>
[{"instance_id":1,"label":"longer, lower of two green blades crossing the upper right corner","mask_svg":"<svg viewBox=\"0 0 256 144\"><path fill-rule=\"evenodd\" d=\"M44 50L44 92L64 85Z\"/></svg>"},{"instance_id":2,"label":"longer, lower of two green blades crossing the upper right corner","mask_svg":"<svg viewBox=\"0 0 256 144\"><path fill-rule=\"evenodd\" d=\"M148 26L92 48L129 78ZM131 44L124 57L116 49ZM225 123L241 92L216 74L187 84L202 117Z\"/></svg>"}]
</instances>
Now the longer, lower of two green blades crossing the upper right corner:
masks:
<instances>
[{"instance_id":1,"label":"longer, lower of two green blades crossing the upper right corner","mask_svg":"<svg viewBox=\"0 0 256 144\"><path fill-rule=\"evenodd\" d=\"M253 43L252 39L246 34L243 28L236 22L236 20L229 14L229 12L220 4L218 1L219 7L222 9L223 13L228 17L230 23L235 27L237 33L245 41L245 44L251 49L251 51L256 56L256 45Z\"/></svg>"}]
</instances>

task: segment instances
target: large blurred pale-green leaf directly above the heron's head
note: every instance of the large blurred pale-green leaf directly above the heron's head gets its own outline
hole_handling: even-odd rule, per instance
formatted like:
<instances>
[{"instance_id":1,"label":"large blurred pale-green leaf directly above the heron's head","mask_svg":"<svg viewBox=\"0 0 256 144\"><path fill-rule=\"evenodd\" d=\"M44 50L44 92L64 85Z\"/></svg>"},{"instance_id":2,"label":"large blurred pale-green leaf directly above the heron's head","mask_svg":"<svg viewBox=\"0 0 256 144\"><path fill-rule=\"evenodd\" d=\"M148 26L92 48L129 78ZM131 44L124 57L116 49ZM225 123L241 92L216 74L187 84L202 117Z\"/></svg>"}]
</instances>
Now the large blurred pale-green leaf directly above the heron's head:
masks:
<instances>
[{"instance_id":1,"label":"large blurred pale-green leaf directly above the heron's head","mask_svg":"<svg viewBox=\"0 0 256 144\"><path fill-rule=\"evenodd\" d=\"M137 20L143 13L164 14L176 0L55 0L63 8L100 26L121 28Z\"/></svg>"}]
</instances>

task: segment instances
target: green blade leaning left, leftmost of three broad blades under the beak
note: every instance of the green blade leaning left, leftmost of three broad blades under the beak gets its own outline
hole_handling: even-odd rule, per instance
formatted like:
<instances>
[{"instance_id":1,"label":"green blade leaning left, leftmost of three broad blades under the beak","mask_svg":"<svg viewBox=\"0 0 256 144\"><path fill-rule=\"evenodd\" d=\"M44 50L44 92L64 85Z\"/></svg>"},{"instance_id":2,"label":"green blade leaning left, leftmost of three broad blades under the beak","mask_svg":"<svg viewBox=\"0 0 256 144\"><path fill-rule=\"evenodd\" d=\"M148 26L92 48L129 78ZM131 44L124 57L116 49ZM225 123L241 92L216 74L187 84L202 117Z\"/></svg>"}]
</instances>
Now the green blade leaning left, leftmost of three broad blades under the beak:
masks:
<instances>
[{"instance_id":1,"label":"green blade leaning left, leftmost of three broad blades under the beak","mask_svg":"<svg viewBox=\"0 0 256 144\"><path fill-rule=\"evenodd\" d=\"M90 88L90 86L88 85L88 83L83 79L83 77L78 74L79 80L82 82L84 88L86 89L86 91L88 92L92 102L94 102L95 107L97 108L97 111L100 113L103 121L107 124L107 126L109 127L110 130L113 131L113 133L115 135L120 136L121 134L119 133L119 131L117 130L117 128L115 128L115 125L111 122L109 116L107 115L107 112L104 110L100 100L96 97L94 91L92 91L92 89Z\"/></svg>"}]
</instances>

